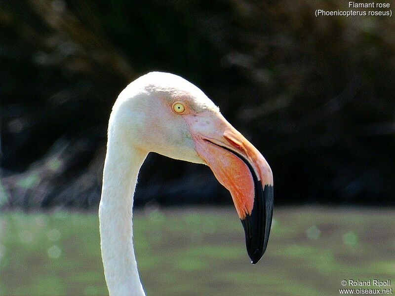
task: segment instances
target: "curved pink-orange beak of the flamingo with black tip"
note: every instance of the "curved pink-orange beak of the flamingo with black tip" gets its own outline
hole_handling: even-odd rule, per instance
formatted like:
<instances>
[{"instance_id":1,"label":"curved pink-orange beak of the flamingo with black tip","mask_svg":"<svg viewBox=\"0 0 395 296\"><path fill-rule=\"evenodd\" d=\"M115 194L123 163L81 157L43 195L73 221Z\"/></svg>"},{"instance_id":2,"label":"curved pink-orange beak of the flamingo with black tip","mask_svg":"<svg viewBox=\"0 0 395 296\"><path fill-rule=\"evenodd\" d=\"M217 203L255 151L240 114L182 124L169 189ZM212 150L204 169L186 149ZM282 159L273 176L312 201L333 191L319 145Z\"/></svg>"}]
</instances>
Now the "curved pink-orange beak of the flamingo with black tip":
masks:
<instances>
[{"instance_id":1,"label":"curved pink-orange beak of the flamingo with black tip","mask_svg":"<svg viewBox=\"0 0 395 296\"><path fill-rule=\"evenodd\" d=\"M207 114L208 115L208 114ZM199 156L232 195L244 226L253 264L268 245L273 216L273 174L262 154L220 113L211 121L194 120L192 136Z\"/></svg>"}]
</instances>

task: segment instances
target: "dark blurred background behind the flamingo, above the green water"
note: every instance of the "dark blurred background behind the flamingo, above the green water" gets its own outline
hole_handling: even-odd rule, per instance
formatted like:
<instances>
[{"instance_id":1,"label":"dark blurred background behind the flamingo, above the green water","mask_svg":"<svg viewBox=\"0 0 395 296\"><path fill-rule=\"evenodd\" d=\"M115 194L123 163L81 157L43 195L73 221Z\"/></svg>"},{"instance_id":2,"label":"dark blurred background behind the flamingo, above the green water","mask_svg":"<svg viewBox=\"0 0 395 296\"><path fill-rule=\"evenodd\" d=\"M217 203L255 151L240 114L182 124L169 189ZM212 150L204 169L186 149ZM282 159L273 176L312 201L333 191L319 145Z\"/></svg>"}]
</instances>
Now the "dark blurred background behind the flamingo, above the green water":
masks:
<instances>
[{"instance_id":1,"label":"dark blurred background behind the flamingo, above the green water","mask_svg":"<svg viewBox=\"0 0 395 296\"><path fill-rule=\"evenodd\" d=\"M97 206L111 107L150 71L220 107L277 205L394 205L392 18L315 17L342 0L0 3L0 207ZM232 201L208 167L151 153L135 202Z\"/></svg>"}]
</instances>

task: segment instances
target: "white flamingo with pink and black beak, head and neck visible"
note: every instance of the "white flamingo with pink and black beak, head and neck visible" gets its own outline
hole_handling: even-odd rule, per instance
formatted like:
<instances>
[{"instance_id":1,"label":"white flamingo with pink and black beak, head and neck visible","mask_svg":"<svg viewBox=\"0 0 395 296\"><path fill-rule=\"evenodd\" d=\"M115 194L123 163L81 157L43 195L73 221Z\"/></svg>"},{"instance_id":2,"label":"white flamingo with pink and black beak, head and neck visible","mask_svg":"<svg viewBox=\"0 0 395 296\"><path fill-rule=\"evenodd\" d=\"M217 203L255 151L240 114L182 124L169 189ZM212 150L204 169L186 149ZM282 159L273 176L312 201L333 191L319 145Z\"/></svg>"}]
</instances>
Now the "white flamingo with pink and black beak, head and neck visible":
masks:
<instances>
[{"instance_id":1,"label":"white flamingo with pink and black beak, head and neck visible","mask_svg":"<svg viewBox=\"0 0 395 296\"><path fill-rule=\"evenodd\" d=\"M149 152L208 165L232 195L253 264L263 256L273 215L273 174L262 154L194 84L151 72L131 82L110 115L99 205L110 296L145 296L133 249L137 175Z\"/></svg>"}]
</instances>

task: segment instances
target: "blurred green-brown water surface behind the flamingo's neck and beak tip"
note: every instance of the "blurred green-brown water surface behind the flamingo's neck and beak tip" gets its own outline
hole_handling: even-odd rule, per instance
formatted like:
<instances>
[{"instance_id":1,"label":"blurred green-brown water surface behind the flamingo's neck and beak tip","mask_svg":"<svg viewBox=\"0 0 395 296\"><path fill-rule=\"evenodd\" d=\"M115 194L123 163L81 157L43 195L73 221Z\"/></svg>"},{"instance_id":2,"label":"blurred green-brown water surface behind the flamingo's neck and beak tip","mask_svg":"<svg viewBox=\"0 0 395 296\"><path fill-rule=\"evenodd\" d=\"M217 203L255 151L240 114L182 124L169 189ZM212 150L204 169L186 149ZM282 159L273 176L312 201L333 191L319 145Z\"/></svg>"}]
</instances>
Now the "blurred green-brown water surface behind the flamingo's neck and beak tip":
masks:
<instances>
[{"instance_id":1,"label":"blurred green-brown water surface behind the flamingo's neck and beak tip","mask_svg":"<svg viewBox=\"0 0 395 296\"><path fill-rule=\"evenodd\" d=\"M136 257L148 296L335 296L349 279L394 289L394 214L276 209L267 253L252 265L231 208L137 210ZM0 295L107 295L97 215L0 214Z\"/></svg>"}]
</instances>

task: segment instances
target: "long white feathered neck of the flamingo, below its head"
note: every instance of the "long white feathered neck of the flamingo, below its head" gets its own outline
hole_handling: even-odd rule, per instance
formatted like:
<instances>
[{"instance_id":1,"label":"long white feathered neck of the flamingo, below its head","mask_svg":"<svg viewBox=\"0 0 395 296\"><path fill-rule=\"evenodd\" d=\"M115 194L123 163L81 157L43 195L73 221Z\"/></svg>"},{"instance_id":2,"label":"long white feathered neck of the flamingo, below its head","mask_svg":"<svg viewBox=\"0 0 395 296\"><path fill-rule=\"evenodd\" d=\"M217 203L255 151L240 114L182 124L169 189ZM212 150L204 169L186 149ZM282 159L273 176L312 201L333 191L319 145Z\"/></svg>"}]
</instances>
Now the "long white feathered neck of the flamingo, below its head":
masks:
<instances>
[{"instance_id":1,"label":"long white feathered neck of the flamingo, below its head","mask_svg":"<svg viewBox=\"0 0 395 296\"><path fill-rule=\"evenodd\" d=\"M109 131L99 221L110 296L145 296L134 255L132 208L137 175L146 156Z\"/></svg>"}]
</instances>

